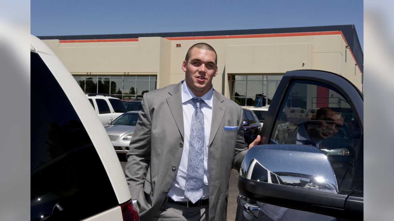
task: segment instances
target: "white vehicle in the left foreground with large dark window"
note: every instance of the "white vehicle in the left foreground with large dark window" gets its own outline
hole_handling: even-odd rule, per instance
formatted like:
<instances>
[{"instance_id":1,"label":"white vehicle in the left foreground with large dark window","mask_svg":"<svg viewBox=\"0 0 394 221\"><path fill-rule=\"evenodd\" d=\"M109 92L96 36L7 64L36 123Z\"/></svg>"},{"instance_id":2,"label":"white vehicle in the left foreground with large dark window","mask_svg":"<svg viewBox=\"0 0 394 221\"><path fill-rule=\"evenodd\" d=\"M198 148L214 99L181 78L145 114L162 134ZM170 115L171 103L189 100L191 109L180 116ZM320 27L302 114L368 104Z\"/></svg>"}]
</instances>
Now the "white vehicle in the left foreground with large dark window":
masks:
<instances>
[{"instance_id":1,"label":"white vehicle in the left foreground with large dark window","mask_svg":"<svg viewBox=\"0 0 394 221\"><path fill-rule=\"evenodd\" d=\"M102 123L67 68L30 38L31 220L139 220Z\"/></svg>"}]
</instances>

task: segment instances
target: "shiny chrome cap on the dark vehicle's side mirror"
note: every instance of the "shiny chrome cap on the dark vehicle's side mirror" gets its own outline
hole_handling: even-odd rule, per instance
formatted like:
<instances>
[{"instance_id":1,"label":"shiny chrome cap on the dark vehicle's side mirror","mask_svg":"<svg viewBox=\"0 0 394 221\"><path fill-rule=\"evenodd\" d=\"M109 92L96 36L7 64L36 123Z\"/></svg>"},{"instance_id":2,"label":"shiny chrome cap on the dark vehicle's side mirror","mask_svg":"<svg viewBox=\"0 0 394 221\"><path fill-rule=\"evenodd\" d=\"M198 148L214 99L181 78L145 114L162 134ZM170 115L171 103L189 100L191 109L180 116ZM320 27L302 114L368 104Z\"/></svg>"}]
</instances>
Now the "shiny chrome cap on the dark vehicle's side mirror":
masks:
<instances>
[{"instance_id":1,"label":"shiny chrome cap on the dark vehicle's side mirror","mask_svg":"<svg viewBox=\"0 0 394 221\"><path fill-rule=\"evenodd\" d=\"M327 155L310 145L258 145L243 159L240 177L257 182L338 192Z\"/></svg>"}]
</instances>

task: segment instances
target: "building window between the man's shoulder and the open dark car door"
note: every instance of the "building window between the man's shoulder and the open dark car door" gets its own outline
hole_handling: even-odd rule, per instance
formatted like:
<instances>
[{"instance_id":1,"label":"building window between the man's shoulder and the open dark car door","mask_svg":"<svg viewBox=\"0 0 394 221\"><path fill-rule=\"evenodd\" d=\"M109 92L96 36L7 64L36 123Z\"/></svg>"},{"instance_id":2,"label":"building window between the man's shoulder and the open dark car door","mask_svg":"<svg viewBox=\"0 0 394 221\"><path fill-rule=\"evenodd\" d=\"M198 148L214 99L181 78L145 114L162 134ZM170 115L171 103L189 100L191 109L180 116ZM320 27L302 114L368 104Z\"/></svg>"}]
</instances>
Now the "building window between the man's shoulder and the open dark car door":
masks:
<instances>
[{"instance_id":1,"label":"building window between the man's shoulder and the open dark car door","mask_svg":"<svg viewBox=\"0 0 394 221\"><path fill-rule=\"evenodd\" d=\"M282 77L282 75L234 75L231 99L241 106L269 105Z\"/></svg>"}]
</instances>

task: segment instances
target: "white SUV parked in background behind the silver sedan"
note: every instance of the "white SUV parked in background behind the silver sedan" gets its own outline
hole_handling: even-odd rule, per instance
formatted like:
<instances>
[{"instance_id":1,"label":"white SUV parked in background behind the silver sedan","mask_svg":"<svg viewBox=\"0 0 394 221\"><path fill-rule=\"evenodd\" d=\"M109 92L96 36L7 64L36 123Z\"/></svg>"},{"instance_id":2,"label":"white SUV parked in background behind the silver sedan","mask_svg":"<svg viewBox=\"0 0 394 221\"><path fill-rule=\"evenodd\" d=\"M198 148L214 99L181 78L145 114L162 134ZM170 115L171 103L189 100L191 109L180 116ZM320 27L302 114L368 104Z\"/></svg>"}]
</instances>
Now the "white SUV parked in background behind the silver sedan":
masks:
<instances>
[{"instance_id":1,"label":"white SUV parked in background behind the silver sedan","mask_svg":"<svg viewBox=\"0 0 394 221\"><path fill-rule=\"evenodd\" d=\"M90 93L86 96L104 126L126 112L122 101L111 94Z\"/></svg>"}]
</instances>

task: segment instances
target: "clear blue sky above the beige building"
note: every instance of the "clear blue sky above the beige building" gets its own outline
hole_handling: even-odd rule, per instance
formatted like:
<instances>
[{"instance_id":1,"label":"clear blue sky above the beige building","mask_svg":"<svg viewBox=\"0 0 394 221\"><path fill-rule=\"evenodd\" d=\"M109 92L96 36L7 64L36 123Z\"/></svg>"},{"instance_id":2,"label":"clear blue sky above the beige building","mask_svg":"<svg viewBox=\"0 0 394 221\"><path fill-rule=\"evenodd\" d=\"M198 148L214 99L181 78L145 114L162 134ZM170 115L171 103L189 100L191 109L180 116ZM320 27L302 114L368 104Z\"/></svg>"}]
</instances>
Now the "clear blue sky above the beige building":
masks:
<instances>
[{"instance_id":1,"label":"clear blue sky above the beige building","mask_svg":"<svg viewBox=\"0 0 394 221\"><path fill-rule=\"evenodd\" d=\"M362 0L31 0L31 33L97 35L354 24Z\"/></svg>"}]
</instances>

